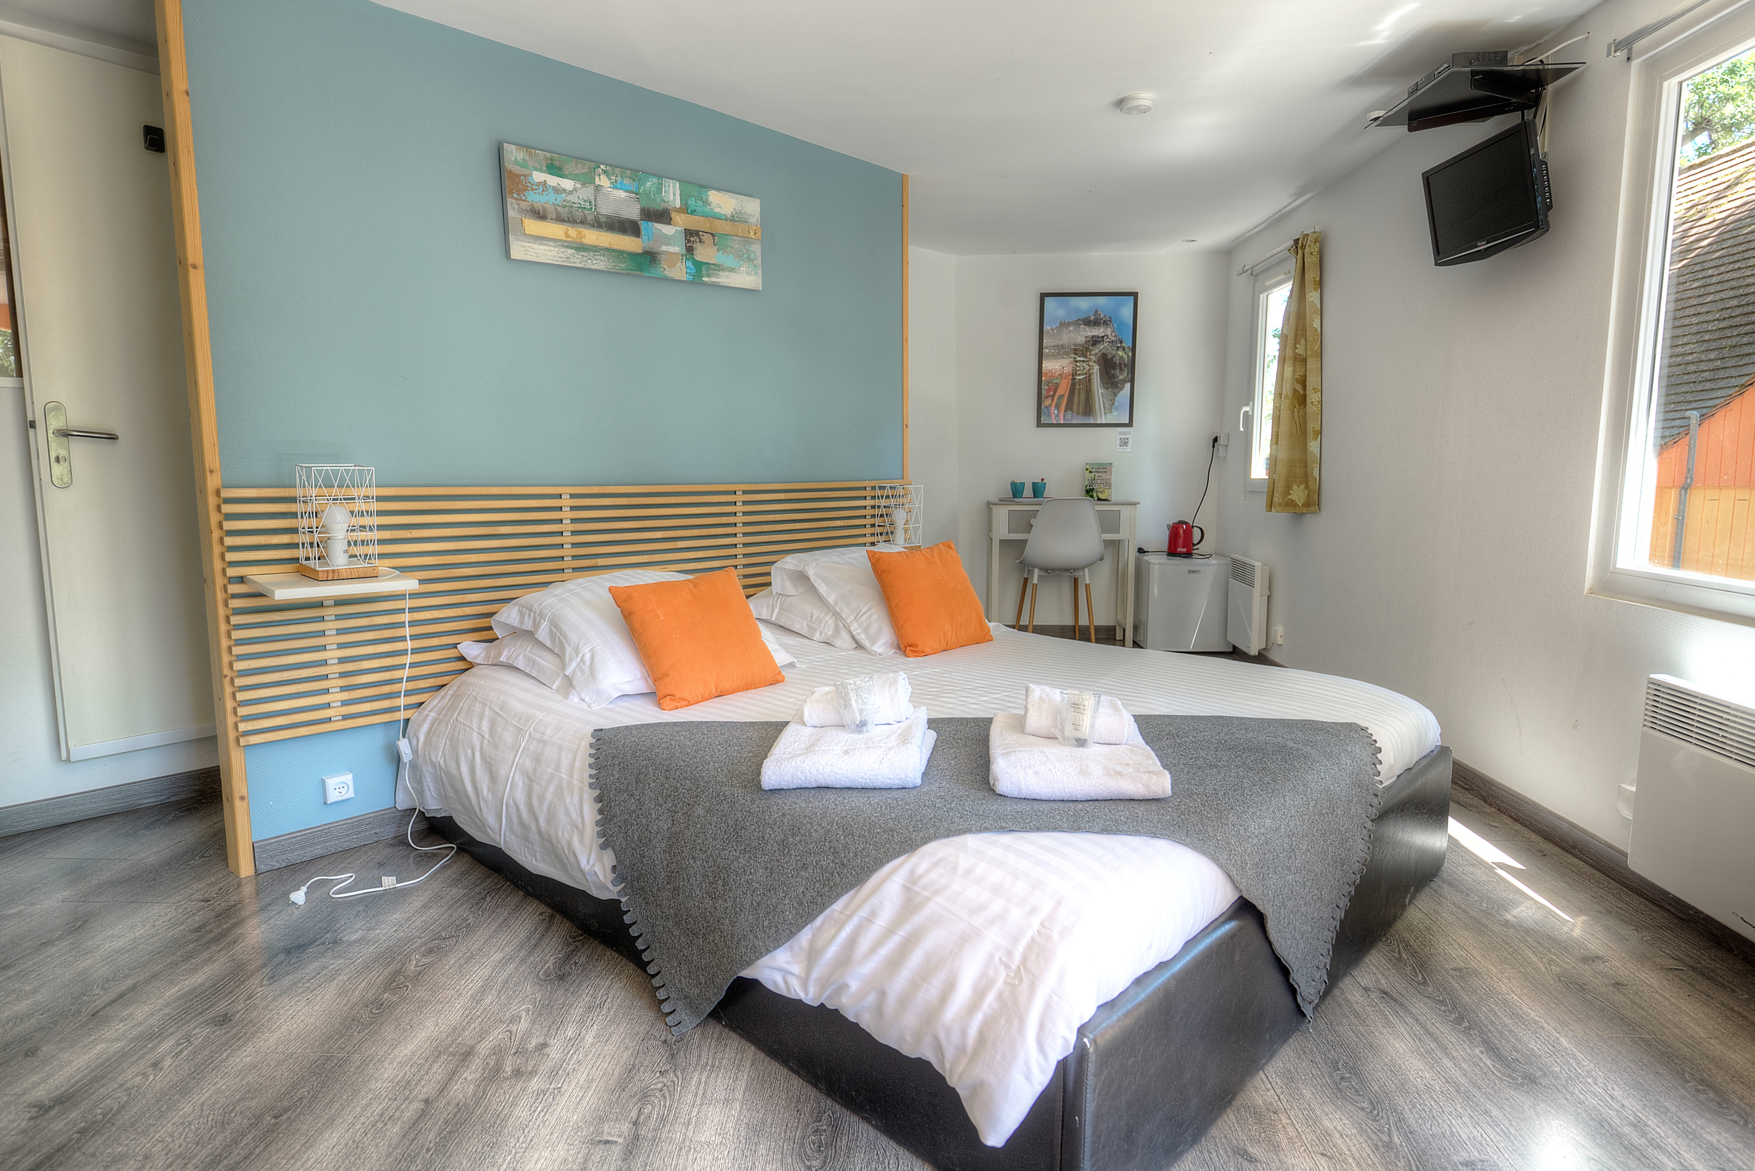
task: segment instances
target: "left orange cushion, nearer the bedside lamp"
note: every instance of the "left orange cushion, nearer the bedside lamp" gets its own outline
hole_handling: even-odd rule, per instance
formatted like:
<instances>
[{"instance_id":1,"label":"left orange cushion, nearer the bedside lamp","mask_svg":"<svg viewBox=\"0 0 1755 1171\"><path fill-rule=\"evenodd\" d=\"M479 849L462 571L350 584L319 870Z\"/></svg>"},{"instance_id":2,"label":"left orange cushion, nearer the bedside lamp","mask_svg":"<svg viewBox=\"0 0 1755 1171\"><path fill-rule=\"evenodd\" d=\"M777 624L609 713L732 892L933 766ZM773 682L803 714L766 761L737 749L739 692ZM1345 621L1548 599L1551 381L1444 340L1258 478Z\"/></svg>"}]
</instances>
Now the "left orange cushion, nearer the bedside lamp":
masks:
<instances>
[{"instance_id":1,"label":"left orange cushion, nearer the bedside lamp","mask_svg":"<svg viewBox=\"0 0 1755 1171\"><path fill-rule=\"evenodd\" d=\"M634 634L663 711L786 681L730 569L688 581L609 586L609 597Z\"/></svg>"}]
</instances>

